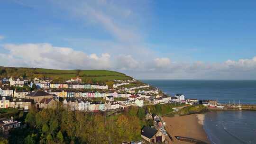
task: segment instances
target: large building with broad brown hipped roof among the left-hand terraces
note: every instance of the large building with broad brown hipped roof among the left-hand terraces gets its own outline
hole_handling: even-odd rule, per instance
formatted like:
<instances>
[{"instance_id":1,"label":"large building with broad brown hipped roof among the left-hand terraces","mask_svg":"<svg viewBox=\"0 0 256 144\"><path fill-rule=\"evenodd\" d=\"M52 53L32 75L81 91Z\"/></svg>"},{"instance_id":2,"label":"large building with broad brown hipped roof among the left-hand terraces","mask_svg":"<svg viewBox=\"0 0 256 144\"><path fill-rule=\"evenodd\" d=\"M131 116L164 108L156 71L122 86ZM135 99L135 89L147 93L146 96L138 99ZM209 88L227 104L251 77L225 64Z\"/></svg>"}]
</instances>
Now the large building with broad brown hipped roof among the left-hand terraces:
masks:
<instances>
[{"instance_id":1,"label":"large building with broad brown hipped roof among the left-hand terraces","mask_svg":"<svg viewBox=\"0 0 256 144\"><path fill-rule=\"evenodd\" d=\"M51 99L51 98L53 98L53 95L43 90L37 90L25 96L25 99L34 99L36 103L41 101L42 99Z\"/></svg>"}]
</instances>

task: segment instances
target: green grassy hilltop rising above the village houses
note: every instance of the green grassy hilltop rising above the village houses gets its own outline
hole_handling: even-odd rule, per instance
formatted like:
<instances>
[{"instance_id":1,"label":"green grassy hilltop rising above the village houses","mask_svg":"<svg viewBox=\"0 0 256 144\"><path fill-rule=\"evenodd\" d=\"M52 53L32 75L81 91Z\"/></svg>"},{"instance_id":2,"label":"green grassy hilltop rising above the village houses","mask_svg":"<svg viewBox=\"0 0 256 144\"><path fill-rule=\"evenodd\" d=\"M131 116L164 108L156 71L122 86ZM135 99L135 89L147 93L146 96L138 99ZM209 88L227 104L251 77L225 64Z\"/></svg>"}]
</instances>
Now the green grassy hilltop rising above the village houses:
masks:
<instances>
[{"instance_id":1,"label":"green grassy hilltop rising above the village houses","mask_svg":"<svg viewBox=\"0 0 256 144\"><path fill-rule=\"evenodd\" d=\"M54 81L69 80L79 76L85 82L106 82L113 80L129 80L124 73L107 70L54 70L42 68L0 67L0 77L22 76L27 79L49 77Z\"/></svg>"}]
</instances>

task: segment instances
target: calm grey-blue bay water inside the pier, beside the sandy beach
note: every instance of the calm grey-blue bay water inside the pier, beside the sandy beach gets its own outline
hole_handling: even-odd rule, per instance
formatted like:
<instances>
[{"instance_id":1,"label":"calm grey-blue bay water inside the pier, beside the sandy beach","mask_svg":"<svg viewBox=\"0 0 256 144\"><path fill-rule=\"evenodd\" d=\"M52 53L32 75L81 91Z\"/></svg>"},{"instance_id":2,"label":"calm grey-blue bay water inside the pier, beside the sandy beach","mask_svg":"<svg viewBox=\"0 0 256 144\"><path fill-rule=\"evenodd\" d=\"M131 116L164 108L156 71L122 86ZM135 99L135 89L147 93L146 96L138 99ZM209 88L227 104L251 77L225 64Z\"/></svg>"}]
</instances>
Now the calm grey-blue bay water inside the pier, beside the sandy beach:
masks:
<instances>
[{"instance_id":1,"label":"calm grey-blue bay water inside the pier, beside the sandy beach","mask_svg":"<svg viewBox=\"0 0 256 144\"><path fill-rule=\"evenodd\" d=\"M204 130L211 144L256 144L256 112L208 112Z\"/></svg>"}]
</instances>

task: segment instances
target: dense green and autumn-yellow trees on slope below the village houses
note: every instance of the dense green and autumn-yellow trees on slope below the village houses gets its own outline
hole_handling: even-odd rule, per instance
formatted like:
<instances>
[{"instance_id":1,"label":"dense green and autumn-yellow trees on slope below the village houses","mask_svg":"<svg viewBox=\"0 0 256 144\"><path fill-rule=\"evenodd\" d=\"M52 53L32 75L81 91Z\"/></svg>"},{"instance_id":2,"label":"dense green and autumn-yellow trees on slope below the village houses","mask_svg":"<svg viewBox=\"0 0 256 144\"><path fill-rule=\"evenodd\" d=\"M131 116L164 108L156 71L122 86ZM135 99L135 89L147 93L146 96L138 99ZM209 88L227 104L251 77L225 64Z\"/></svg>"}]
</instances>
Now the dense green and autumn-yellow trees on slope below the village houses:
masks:
<instances>
[{"instance_id":1,"label":"dense green and autumn-yellow trees on slope below the village houses","mask_svg":"<svg viewBox=\"0 0 256 144\"><path fill-rule=\"evenodd\" d=\"M31 110L25 117L27 126L12 130L8 141L9 144L120 144L141 139L141 127L147 125L144 117L145 109L137 107L109 117L61 107Z\"/></svg>"}]
</instances>

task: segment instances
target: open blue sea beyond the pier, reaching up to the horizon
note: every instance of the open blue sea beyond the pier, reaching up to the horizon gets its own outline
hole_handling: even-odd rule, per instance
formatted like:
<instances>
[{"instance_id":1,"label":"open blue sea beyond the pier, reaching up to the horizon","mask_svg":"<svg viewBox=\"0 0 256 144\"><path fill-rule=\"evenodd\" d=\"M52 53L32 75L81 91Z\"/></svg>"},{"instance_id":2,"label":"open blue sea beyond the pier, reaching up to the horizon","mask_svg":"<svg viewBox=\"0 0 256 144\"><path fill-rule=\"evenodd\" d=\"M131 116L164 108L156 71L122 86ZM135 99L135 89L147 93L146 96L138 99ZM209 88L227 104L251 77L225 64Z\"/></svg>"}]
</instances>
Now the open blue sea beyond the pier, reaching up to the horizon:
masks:
<instances>
[{"instance_id":1,"label":"open blue sea beyond the pier, reaching up to the horizon","mask_svg":"<svg viewBox=\"0 0 256 144\"><path fill-rule=\"evenodd\" d=\"M166 94L185 98L218 99L220 103L256 104L256 81L235 80L142 80Z\"/></svg>"}]
</instances>

